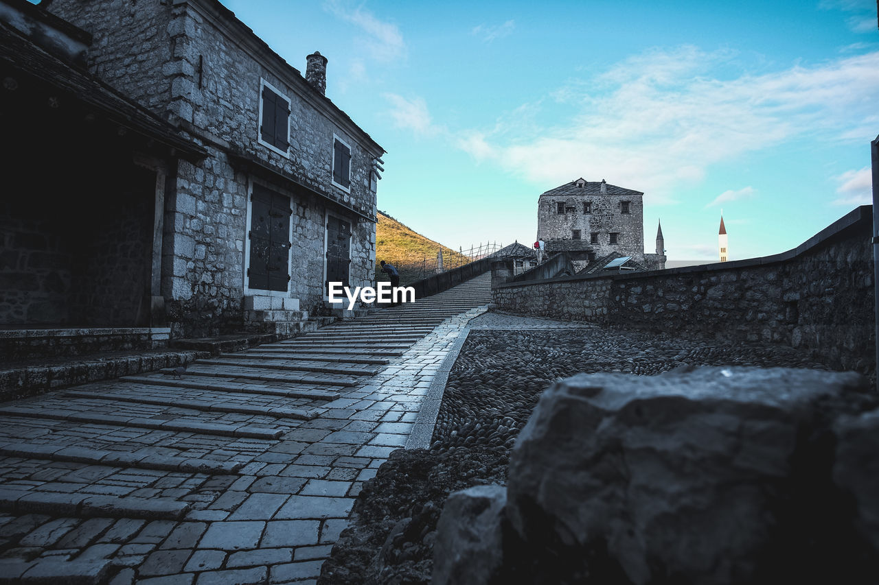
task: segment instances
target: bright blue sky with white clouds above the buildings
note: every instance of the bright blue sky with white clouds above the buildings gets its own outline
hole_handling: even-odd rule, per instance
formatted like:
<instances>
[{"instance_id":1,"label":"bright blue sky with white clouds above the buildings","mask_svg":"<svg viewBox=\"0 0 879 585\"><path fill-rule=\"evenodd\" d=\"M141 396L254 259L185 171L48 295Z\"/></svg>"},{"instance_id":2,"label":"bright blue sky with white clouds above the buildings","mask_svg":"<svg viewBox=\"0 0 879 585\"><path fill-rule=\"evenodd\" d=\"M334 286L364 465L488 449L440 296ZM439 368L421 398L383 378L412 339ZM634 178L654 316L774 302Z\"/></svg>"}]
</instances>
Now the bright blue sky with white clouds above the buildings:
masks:
<instances>
[{"instance_id":1,"label":"bright blue sky with white clouds above the buildings","mask_svg":"<svg viewBox=\"0 0 879 585\"><path fill-rule=\"evenodd\" d=\"M223 0L388 154L379 208L454 248L530 244L577 177L643 191L670 260L793 248L868 203L872 0Z\"/></svg>"}]
</instances>

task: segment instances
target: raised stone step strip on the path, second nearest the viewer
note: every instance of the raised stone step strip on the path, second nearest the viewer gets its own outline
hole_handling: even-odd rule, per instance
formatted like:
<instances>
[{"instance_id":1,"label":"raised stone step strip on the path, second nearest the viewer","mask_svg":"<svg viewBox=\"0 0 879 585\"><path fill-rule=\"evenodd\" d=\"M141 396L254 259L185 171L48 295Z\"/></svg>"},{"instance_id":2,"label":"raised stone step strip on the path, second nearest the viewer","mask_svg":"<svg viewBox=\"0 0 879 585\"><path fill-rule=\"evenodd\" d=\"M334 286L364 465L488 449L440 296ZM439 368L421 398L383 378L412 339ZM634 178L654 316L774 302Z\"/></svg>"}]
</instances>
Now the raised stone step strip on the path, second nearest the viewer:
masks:
<instances>
[{"instance_id":1,"label":"raised stone step strip on the path, second nearest the viewer","mask_svg":"<svg viewBox=\"0 0 879 585\"><path fill-rule=\"evenodd\" d=\"M57 444L0 444L0 455L25 459L49 459L51 461L71 461L113 467L139 467L159 471L180 471L185 473L236 473L244 464L241 461L214 461L195 457L176 457L156 455L151 449L145 452L105 451L83 447Z\"/></svg>"}]
</instances>

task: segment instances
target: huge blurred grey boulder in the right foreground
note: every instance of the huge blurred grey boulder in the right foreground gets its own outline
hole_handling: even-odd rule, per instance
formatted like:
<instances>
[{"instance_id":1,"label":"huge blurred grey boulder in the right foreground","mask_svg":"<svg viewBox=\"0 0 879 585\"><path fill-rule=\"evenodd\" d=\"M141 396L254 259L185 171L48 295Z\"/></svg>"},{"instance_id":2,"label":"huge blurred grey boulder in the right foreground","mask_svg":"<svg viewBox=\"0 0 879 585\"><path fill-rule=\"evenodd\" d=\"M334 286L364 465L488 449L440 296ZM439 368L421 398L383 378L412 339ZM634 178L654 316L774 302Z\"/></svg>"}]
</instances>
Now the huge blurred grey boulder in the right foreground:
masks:
<instances>
[{"instance_id":1,"label":"huge blurred grey boulder in the right foreground","mask_svg":"<svg viewBox=\"0 0 879 585\"><path fill-rule=\"evenodd\" d=\"M854 373L739 367L556 383L512 453L507 570L545 583L861 582L832 425L865 388Z\"/></svg>"}]
</instances>

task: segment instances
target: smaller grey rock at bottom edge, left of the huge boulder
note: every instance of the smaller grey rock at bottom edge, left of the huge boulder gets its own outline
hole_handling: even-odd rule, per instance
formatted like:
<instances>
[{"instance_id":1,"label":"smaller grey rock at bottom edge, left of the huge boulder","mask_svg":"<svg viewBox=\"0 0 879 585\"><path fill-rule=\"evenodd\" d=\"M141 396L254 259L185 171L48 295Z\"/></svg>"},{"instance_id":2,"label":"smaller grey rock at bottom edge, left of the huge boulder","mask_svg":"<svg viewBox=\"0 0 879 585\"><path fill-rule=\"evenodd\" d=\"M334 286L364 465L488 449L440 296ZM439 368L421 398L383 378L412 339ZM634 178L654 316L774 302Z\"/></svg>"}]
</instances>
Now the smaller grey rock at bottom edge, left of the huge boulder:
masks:
<instances>
[{"instance_id":1,"label":"smaller grey rock at bottom edge, left of the huge boulder","mask_svg":"<svg viewBox=\"0 0 879 585\"><path fill-rule=\"evenodd\" d=\"M506 488L474 486L449 495L437 523L432 585L482 585L503 563Z\"/></svg>"}]
</instances>

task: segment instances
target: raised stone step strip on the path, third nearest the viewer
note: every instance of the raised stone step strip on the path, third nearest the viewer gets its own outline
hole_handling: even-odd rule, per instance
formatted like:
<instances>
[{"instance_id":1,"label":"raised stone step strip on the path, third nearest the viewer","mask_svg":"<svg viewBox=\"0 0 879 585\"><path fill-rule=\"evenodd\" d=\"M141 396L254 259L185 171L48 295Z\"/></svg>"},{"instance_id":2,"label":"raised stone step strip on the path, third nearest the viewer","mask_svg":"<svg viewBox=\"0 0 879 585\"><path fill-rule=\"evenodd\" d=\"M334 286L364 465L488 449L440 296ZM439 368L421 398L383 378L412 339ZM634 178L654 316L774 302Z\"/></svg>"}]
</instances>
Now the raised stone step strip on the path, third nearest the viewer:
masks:
<instances>
[{"instance_id":1,"label":"raised stone step strip on the path, third nearest the viewer","mask_svg":"<svg viewBox=\"0 0 879 585\"><path fill-rule=\"evenodd\" d=\"M115 415L83 415L70 410L41 409L31 410L20 407L0 407L0 416L26 416L29 418L48 418L53 420L71 421L75 423L108 424L138 429L180 430L196 432L200 435L216 435L219 437L244 437L258 439L277 439L284 431L277 429L264 429L250 425L234 426L217 423L178 423L177 421L161 421L149 418L137 418L133 416Z\"/></svg>"}]
</instances>

